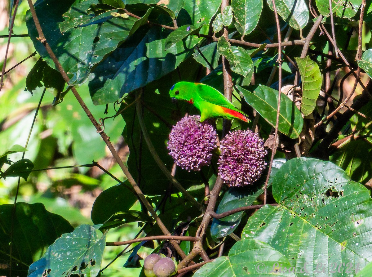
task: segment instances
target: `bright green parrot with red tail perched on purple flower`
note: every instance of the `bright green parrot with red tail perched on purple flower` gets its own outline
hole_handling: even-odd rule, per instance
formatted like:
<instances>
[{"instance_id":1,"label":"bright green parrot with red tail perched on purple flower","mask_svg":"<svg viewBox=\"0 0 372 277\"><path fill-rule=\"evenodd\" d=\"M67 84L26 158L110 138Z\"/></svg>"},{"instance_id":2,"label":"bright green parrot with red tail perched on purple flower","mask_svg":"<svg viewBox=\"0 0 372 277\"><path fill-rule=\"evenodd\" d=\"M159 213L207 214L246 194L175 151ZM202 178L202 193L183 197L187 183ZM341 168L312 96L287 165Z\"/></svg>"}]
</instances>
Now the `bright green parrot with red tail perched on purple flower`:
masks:
<instances>
[{"instance_id":1,"label":"bright green parrot with red tail perched on purple flower","mask_svg":"<svg viewBox=\"0 0 372 277\"><path fill-rule=\"evenodd\" d=\"M211 117L250 121L248 115L235 108L221 92L202 83L178 82L171 87L169 95L174 99L186 100L198 108L201 113L201 122Z\"/></svg>"}]
</instances>

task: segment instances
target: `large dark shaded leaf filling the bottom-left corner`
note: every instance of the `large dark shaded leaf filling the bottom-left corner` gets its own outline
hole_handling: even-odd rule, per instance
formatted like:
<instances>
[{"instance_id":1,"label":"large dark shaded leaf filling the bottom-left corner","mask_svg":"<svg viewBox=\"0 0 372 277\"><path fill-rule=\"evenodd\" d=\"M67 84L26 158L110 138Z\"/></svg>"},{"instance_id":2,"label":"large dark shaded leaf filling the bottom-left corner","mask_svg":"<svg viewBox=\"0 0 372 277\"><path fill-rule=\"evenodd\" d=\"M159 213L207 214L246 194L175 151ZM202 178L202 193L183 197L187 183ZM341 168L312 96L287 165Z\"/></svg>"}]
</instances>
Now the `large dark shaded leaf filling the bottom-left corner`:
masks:
<instances>
[{"instance_id":1,"label":"large dark shaded leaf filling the bottom-left corner","mask_svg":"<svg viewBox=\"0 0 372 277\"><path fill-rule=\"evenodd\" d=\"M13 218L12 273L26 276L29 265L41 257L55 239L62 233L71 232L73 227L63 217L49 213L41 203L17 203L14 216L13 207L13 204L0 206L0 259L9 261ZM9 276L9 268L1 268L0 272Z\"/></svg>"}]
</instances>

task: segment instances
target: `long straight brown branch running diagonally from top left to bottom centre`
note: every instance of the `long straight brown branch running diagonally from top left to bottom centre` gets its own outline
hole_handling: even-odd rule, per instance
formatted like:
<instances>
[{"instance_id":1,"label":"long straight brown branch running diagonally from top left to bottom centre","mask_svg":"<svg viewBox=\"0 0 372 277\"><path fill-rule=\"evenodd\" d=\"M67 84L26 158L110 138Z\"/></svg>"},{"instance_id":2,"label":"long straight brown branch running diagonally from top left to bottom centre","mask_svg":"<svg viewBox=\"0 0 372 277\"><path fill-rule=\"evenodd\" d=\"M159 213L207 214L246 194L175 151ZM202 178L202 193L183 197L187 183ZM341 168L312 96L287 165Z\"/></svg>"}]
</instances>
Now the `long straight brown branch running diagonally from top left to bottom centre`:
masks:
<instances>
[{"instance_id":1,"label":"long straight brown branch running diagonally from top left to bottom centre","mask_svg":"<svg viewBox=\"0 0 372 277\"><path fill-rule=\"evenodd\" d=\"M31 11L33 21L35 22L35 26L36 26L36 29L37 29L38 34L39 34L39 39L42 42L42 44L44 45L45 49L47 50L49 56L53 60L56 68L60 71L63 79L68 83L70 81L70 78L67 76L66 71L63 69L62 65L58 61L58 59L55 56L53 50L51 49L50 45L48 44L47 39L44 36L44 33L42 31L39 19L36 15L35 8L33 7L32 0L27 0L27 1L28 1L28 4L29 4L29 7L30 7L30 11ZM89 109L86 106L86 104L84 103L83 99L81 98L81 96L77 92L76 87L74 87L74 86L71 87L71 90L72 90L75 98L77 99L77 101L79 102L81 107L83 108L84 112L86 113L87 117L90 119L90 121L92 122L92 124L94 125L94 127L96 128L96 130L98 131L100 136L102 137L103 141L105 141L106 145L108 146L108 148L109 148L110 152L112 153L113 157L115 158L116 162L118 163L118 165L120 166L120 168L124 172L126 178L128 178L128 181L132 185L132 187L133 187L134 191L136 192L138 198L144 204L146 209L150 212L151 216L153 216L155 222L157 223L157 225L159 226L161 231L164 233L164 235L170 235L170 232L168 231L167 227L161 221L160 217L155 213L155 211L154 211L153 207L151 206L150 202L147 200L147 198L145 197L145 195L141 191L140 187L138 187L136 181L134 180L132 175L129 173L128 168L124 165L123 161L119 157L118 152L116 152L115 147L112 145L109 137L107 136L107 134L105 132L102 131L100 124L96 121L96 119L93 117L92 113L89 111ZM180 248L180 246L177 243L172 243L172 245L177 250L178 254L181 257L186 256L185 253L182 251L182 249Z\"/></svg>"}]
</instances>

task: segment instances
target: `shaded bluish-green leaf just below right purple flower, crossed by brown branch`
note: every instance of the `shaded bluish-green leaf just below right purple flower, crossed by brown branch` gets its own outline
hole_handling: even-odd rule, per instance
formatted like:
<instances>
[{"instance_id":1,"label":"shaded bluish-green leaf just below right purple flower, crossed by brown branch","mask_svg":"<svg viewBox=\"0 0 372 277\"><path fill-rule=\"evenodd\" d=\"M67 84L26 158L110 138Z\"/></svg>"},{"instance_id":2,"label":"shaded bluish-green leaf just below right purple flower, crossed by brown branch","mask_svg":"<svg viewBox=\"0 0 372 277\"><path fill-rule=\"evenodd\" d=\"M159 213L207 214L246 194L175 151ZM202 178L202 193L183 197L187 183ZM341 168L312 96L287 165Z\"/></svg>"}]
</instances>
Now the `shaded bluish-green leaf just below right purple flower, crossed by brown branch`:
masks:
<instances>
[{"instance_id":1,"label":"shaded bluish-green leaf just below right purple flower, crossed by brown branch","mask_svg":"<svg viewBox=\"0 0 372 277\"><path fill-rule=\"evenodd\" d=\"M284 159L273 160L273 167L270 174L270 179L268 185L271 185L272 179L280 168L285 163ZM230 211L235 208L240 208L244 206L250 206L263 192L263 183L259 182L255 186L246 186L243 188L230 188L222 197L221 202L218 204L216 213L224 213L225 211ZM212 239L216 240L218 238L230 235L236 227L238 227L241 217L244 211L231 214L230 216L224 217L222 219L213 219L211 225L211 236Z\"/></svg>"}]
</instances>

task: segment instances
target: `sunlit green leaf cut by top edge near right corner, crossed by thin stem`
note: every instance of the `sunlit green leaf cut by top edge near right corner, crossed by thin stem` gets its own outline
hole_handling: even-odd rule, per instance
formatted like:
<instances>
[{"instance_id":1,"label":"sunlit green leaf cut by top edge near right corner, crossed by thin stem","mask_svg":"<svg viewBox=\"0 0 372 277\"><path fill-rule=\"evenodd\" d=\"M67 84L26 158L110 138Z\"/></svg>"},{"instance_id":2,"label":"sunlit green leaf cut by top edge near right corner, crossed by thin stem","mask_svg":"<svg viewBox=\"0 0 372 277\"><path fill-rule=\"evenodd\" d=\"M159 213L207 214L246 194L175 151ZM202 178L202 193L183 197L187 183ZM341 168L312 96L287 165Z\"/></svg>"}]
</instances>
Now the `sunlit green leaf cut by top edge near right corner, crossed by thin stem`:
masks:
<instances>
[{"instance_id":1,"label":"sunlit green leaf cut by top edge near right corner, crossed by thin stem","mask_svg":"<svg viewBox=\"0 0 372 277\"><path fill-rule=\"evenodd\" d=\"M321 15L329 16L328 0L315 0L315 4L317 5ZM336 13L336 16L341 18L351 18L358 12L360 4L362 4L362 0L332 0L332 12Z\"/></svg>"}]
</instances>

